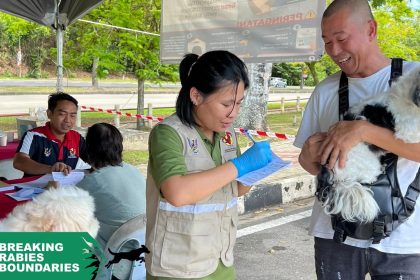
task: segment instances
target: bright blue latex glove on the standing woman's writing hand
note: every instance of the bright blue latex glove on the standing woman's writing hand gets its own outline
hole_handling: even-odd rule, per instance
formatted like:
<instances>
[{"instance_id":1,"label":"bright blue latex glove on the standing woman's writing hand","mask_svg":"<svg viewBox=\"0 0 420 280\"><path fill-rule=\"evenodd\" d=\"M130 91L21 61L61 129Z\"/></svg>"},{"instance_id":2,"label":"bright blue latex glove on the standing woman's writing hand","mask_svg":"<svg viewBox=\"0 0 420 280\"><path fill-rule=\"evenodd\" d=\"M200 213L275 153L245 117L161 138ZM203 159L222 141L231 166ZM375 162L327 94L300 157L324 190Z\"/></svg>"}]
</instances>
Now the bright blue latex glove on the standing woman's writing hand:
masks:
<instances>
[{"instance_id":1,"label":"bright blue latex glove on the standing woman's writing hand","mask_svg":"<svg viewBox=\"0 0 420 280\"><path fill-rule=\"evenodd\" d=\"M230 161L238 170L238 177L260 169L271 162L270 143L267 141L255 142L245 153Z\"/></svg>"}]
</instances>

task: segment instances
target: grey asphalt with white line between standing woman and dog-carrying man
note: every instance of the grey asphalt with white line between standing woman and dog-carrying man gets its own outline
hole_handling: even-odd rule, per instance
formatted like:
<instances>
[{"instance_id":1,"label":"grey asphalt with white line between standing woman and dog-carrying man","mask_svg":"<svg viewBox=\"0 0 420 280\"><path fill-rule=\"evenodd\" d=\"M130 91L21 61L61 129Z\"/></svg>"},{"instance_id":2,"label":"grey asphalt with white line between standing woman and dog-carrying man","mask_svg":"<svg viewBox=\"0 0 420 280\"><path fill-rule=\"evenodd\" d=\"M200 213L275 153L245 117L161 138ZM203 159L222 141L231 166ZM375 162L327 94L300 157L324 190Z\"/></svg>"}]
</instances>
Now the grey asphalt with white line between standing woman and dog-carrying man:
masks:
<instances>
[{"instance_id":1,"label":"grey asphalt with white line between standing woman and dog-carrying man","mask_svg":"<svg viewBox=\"0 0 420 280\"><path fill-rule=\"evenodd\" d=\"M240 216L235 246L238 280L315 280L313 200L276 205Z\"/></svg>"}]
</instances>

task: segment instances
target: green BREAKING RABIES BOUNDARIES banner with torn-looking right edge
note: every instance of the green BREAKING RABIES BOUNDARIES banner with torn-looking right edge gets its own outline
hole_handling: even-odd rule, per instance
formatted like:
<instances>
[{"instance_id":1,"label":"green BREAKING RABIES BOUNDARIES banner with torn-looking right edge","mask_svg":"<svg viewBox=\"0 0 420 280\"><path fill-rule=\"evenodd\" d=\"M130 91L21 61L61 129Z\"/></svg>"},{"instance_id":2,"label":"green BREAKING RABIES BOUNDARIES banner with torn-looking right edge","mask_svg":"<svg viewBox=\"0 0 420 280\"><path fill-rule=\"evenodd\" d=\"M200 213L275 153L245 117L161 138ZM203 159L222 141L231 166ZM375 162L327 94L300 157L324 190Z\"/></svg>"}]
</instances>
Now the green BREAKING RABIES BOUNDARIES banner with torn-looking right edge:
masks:
<instances>
[{"instance_id":1,"label":"green BREAKING RABIES BOUNDARIES banner with torn-looking right edge","mask_svg":"<svg viewBox=\"0 0 420 280\"><path fill-rule=\"evenodd\" d=\"M86 232L1 232L0 279L109 279L107 259Z\"/></svg>"}]
</instances>

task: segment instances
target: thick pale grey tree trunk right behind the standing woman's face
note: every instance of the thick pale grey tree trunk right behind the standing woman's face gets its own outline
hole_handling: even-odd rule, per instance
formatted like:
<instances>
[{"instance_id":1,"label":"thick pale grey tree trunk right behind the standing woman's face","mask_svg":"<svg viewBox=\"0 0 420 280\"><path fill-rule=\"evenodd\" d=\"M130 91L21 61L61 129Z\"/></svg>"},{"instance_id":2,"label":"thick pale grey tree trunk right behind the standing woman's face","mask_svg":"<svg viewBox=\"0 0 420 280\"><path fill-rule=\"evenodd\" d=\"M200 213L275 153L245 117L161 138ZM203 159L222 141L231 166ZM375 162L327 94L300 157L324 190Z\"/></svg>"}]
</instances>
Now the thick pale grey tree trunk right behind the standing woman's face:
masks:
<instances>
[{"instance_id":1,"label":"thick pale grey tree trunk right behind the standing woman's face","mask_svg":"<svg viewBox=\"0 0 420 280\"><path fill-rule=\"evenodd\" d=\"M241 111L235 121L235 127L252 130L267 130L268 83L271 77L272 63L247 64L250 86L245 93Z\"/></svg>"}]
</instances>

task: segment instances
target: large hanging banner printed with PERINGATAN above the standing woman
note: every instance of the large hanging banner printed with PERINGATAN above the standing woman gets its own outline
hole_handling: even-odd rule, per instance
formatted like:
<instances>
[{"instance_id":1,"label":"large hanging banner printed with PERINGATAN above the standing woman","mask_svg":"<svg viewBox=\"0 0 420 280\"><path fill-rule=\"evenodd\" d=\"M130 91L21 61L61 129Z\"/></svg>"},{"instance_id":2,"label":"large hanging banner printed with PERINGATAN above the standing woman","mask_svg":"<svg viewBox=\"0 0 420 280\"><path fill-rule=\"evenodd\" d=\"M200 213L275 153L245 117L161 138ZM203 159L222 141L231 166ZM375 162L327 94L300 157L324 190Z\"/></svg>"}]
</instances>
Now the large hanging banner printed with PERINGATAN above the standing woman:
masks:
<instances>
[{"instance_id":1,"label":"large hanging banner printed with PERINGATAN above the standing woman","mask_svg":"<svg viewBox=\"0 0 420 280\"><path fill-rule=\"evenodd\" d=\"M315 61L324 9L325 0L163 0L160 58L223 49L247 63Z\"/></svg>"}]
</instances>

